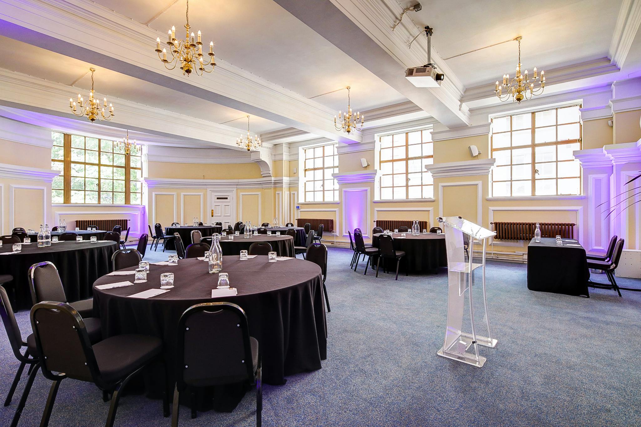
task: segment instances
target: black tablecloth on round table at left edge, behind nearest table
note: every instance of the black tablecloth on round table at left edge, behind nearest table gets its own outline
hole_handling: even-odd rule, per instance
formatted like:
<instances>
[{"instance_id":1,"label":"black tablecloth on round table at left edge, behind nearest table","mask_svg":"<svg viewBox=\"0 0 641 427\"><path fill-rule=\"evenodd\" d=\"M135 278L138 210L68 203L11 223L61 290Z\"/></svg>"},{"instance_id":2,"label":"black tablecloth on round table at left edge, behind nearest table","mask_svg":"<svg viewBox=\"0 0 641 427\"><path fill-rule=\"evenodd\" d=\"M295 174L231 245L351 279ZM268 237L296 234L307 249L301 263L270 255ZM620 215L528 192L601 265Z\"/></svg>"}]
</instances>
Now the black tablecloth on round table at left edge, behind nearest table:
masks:
<instances>
[{"instance_id":1,"label":"black tablecloth on round table at left edge, behind nearest table","mask_svg":"<svg viewBox=\"0 0 641 427\"><path fill-rule=\"evenodd\" d=\"M6 286L15 286L14 309L31 307L29 267L43 261L51 261L58 268L67 301L84 300L91 297L94 280L111 271L112 255L117 250L118 245L112 241L63 241L46 248L38 248L37 243L23 244L19 254L0 255L0 274L13 276L13 284ZM6 252L12 252L12 245L0 248L0 254Z\"/></svg>"}]
</instances>

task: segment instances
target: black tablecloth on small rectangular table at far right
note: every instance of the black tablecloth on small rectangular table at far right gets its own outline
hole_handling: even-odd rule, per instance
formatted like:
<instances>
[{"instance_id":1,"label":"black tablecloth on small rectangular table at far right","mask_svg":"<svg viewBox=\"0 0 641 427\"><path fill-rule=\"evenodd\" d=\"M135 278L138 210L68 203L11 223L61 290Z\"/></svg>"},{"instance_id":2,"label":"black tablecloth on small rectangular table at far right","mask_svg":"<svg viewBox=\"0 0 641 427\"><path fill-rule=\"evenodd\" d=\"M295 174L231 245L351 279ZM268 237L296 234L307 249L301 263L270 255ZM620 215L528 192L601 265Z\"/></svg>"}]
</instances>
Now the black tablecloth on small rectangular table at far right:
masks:
<instances>
[{"instance_id":1,"label":"black tablecloth on small rectangular table at far right","mask_svg":"<svg viewBox=\"0 0 641 427\"><path fill-rule=\"evenodd\" d=\"M571 246L578 245L578 246ZM528 289L567 295L589 295L588 261L585 249L576 240L532 239L528 245Z\"/></svg>"}]
</instances>

